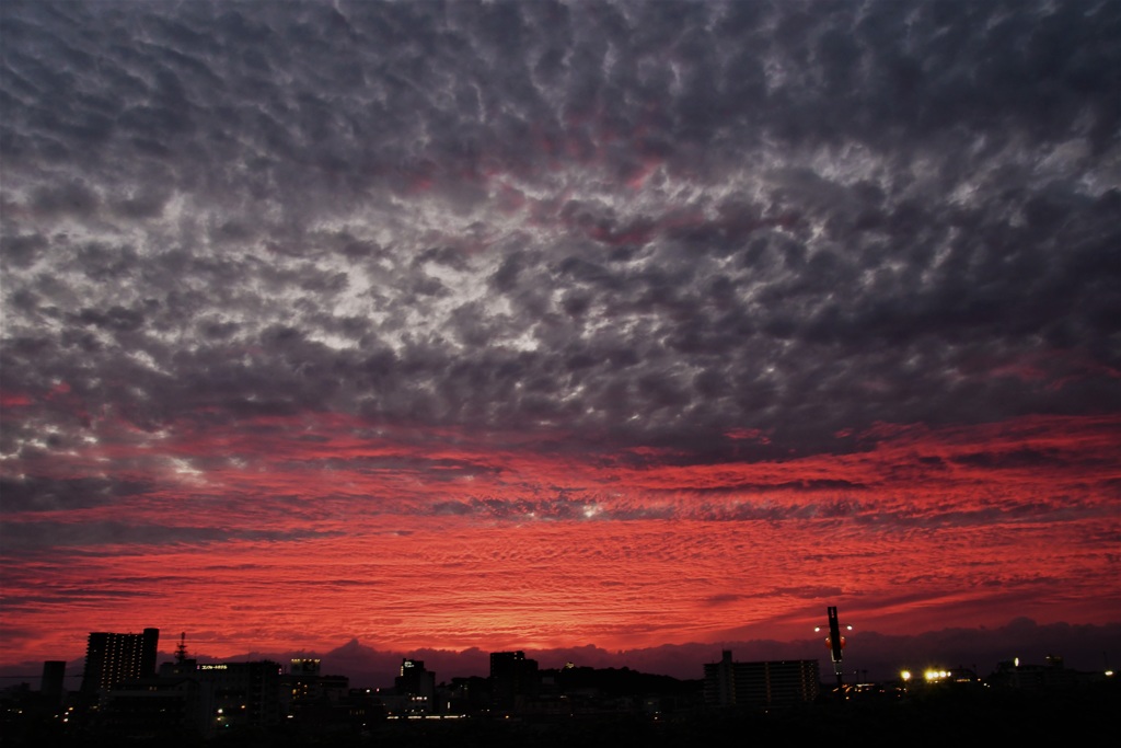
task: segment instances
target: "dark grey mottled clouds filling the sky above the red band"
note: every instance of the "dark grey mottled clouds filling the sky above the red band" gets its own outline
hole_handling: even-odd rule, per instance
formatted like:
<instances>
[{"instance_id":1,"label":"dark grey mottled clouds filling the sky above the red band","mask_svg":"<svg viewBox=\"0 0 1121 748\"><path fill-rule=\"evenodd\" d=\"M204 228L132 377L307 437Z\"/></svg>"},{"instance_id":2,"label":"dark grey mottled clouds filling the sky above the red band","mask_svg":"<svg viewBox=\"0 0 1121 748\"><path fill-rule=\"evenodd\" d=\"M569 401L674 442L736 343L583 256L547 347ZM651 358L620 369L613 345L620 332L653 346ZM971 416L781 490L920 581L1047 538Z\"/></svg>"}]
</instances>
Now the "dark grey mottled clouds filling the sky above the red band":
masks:
<instances>
[{"instance_id":1,"label":"dark grey mottled clouds filling the sky above the red band","mask_svg":"<svg viewBox=\"0 0 1121 748\"><path fill-rule=\"evenodd\" d=\"M0 13L6 454L106 409L713 458L1115 412L1115 3Z\"/></svg>"}]
</instances>

